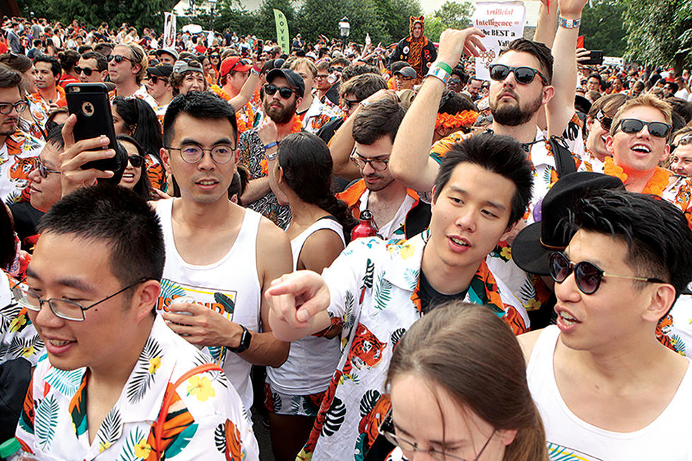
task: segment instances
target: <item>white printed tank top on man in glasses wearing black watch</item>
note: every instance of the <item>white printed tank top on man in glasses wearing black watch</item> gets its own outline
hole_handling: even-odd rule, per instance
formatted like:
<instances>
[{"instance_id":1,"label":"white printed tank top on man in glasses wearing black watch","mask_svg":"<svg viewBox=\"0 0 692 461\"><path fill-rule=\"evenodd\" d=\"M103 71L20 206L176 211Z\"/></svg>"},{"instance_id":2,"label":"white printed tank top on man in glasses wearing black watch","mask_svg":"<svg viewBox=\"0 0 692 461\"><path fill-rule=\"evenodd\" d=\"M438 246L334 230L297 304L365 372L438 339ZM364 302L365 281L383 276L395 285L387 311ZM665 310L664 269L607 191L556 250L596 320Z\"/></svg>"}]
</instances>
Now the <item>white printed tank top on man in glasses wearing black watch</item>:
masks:
<instances>
[{"instance_id":1,"label":"white printed tank top on man in glasses wearing black watch","mask_svg":"<svg viewBox=\"0 0 692 461\"><path fill-rule=\"evenodd\" d=\"M166 265L156 309L167 311L175 298L192 296L197 303L216 310L226 319L253 332L259 331L261 286L257 275L256 246L262 216L245 209L241 230L231 250L217 262L198 266L185 262L175 248L171 221L173 201L156 202L166 245ZM221 361L221 368L249 411L253 404L250 363L225 347L204 347L202 351L211 356L214 363Z\"/></svg>"}]
</instances>

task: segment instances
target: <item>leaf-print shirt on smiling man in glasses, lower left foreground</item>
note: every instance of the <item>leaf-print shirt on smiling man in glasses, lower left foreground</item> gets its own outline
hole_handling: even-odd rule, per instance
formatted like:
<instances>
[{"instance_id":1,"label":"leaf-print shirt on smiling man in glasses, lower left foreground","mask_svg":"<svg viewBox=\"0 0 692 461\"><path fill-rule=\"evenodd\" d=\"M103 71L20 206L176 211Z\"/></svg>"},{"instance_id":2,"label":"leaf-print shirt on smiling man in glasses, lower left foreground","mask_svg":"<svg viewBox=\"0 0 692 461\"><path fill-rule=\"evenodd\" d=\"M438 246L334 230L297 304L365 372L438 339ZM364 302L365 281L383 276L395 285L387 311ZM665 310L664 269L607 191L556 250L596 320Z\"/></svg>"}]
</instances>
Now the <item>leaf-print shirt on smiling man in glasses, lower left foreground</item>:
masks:
<instances>
[{"instance_id":1,"label":"leaf-print shirt on smiling man in glasses, lower left foreground","mask_svg":"<svg viewBox=\"0 0 692 461\"><path fill-rule=\"evenodd\" d=\"M120 398L88 441L86 368L59 370L42 356L16 437L42 460L258 460L258 445L238 394L221 371L183 374L207 363L156 316ZM166 392L173 392L160 444L154 436Z\"/></svg>"}]
</instances>

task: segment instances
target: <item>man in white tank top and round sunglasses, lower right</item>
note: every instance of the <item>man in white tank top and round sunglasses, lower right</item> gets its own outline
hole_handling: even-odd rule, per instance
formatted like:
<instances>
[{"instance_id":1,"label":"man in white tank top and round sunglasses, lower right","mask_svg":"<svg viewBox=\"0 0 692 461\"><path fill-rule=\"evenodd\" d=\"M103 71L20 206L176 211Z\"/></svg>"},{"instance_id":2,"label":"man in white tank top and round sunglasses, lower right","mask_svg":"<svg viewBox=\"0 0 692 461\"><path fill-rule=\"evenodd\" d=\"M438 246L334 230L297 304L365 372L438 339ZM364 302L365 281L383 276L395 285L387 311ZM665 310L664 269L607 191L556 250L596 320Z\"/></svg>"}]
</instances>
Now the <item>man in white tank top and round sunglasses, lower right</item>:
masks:
<instances>
[{"instance_id":1,"label":"man in white tank top and round sunglasses, lower right","mask_svg":"<svg viewBox=\"0 0 692 461\"><path fill-rule=\"evenodd\" d=\"M570 207L577 229L550 256L557 325L519 337L551 457L684 460L692 366L657 325L692 279L684 214L602 190Z\"/></svg>"}]
</instances>

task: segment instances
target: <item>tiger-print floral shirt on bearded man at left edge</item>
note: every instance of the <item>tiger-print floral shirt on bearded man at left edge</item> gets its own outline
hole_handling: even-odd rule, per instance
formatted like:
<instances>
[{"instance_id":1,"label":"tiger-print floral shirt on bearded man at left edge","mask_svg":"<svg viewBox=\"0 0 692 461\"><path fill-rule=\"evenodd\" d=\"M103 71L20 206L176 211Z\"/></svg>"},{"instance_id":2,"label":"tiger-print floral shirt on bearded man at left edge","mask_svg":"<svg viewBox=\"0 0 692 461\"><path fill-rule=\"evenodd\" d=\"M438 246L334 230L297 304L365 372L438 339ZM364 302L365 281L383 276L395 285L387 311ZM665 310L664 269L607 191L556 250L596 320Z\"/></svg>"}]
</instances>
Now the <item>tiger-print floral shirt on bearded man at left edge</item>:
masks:
<instances>
[{"instance_id":1,"label":"tiger-print floral shirt on bearded man at left edge","mask_svg":"<svg viewBox=\"0 0 692 461\"><path fill-rule=\"evenodd\" d=\"M29 173L43 141L17 130L0 146L0 197L7 204L28 202Z\"/></svg>"}]
</instances>

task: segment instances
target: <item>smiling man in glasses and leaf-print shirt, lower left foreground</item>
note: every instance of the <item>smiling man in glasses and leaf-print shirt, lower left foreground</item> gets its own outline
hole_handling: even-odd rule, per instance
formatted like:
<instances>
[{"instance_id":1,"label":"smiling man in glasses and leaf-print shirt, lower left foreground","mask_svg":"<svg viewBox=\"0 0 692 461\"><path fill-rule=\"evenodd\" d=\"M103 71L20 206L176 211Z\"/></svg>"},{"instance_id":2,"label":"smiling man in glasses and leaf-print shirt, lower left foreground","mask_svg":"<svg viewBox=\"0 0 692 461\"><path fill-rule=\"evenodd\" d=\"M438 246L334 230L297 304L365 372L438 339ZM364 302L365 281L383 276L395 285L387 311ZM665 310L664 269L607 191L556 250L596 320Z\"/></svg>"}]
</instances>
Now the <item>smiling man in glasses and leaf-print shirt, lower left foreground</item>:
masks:
<instances>
[{"instance_id":1,"label":"smiling man in glasses and leaf-print shirt, lower left foreground","mask_svg":"<svg viewBox=\"0 0 692 461\"><path fill-rule=\"evenodd\" d=\"M23 450L258 459L226 375L156 315L164 259L156 213L125 188L80 189L45 215L25 284L13 288L47 351L19 417Z\"/></svg>"}]
</instances>

